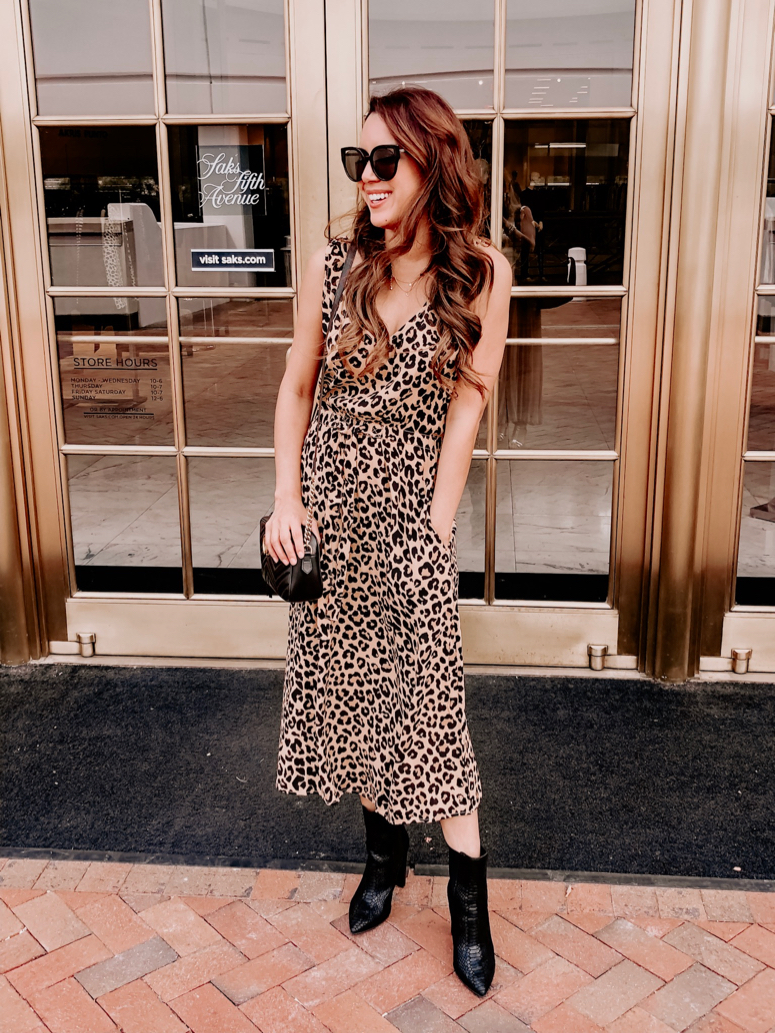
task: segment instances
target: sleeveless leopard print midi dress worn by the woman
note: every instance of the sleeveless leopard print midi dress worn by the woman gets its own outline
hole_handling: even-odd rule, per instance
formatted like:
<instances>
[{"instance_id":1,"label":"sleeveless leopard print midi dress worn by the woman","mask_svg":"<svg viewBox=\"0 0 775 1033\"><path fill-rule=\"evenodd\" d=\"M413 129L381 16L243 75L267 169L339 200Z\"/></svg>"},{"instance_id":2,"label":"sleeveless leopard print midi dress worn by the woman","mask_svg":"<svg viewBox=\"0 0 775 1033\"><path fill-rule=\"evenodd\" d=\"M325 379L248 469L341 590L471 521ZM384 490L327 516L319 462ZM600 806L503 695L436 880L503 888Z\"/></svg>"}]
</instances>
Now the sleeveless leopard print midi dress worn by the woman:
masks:
<instances>
[{"instance_id":1,"label":"sleeveless leopard print midi dress worn by the woman","mask_svg":"<svg viewBox=\"0 0 775 1033\"><path fill-rule=\"evenodd\" d=\"M326 253L323 325L347 245ZM290 604L276 787L374 801L389 821L469 814L482 782L465 714L457 524L447 544L429 513L450 396L430 363L428 303L364 377L328 340L318 404L302 448L302 499L320 532L323 594ZM370 341L350 356L365 362Z\"/></svg>"}]
</instances>

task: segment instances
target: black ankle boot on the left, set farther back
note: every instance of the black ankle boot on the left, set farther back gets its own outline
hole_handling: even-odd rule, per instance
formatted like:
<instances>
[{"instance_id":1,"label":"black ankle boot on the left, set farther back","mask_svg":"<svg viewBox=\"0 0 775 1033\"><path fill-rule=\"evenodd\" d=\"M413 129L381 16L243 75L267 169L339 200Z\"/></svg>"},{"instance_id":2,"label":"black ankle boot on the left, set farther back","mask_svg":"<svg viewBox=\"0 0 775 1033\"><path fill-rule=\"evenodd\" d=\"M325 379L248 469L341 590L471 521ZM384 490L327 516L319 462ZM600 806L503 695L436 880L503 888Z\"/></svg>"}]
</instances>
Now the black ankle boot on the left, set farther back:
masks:
<instances>
[{"instance_id":1,"label":"black ankle boot on the left, set farther back","mask_svg":"<svg viewBox=\"0 0 775 1033\"><path fill-rule=\"evenodd\" d=\"M366 823L366 871L350 901L350 932L363 933L391 913L394 886L406 883L409 834L361 805Z\"/></svg>"}]
</instances>

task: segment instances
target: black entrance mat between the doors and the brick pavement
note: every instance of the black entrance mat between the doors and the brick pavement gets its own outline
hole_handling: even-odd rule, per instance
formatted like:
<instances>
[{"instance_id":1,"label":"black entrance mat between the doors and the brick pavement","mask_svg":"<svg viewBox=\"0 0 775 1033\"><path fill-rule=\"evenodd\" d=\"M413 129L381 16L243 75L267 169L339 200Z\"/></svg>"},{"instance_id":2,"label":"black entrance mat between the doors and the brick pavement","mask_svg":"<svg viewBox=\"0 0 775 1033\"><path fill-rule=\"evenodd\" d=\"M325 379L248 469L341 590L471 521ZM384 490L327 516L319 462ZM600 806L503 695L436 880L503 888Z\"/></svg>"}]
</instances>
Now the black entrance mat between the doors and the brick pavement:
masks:
<instances>
[{"instance_id":1,"label":"black entrance mat between the doors and the brick pavement","mask_svg":"<svg viewBox=\"0 0 775 1033\"><path fill-rule=\"evenodd\" d=\"M469 676L493 868L775 878L775 686ZM274 788L282 671L0 668L0 850L363 860ZM438 825L410 863L445 864ZM739 869L739 871L738 871Z\"/></svg>"}]
</instances>

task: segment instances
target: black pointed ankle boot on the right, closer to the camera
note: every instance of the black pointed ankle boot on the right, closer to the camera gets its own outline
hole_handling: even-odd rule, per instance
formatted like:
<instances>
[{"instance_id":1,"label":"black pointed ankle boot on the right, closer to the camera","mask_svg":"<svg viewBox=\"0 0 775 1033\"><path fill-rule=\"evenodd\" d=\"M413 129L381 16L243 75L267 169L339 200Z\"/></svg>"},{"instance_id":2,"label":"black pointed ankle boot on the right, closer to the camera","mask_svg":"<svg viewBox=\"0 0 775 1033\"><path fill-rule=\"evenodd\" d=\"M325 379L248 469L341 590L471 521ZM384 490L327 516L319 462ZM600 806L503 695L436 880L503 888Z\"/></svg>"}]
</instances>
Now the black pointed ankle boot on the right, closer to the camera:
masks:
<instances>
[{"instance_id":1,"label":"black pointed ankle boot on the right, closer to the camera","mask_svg":"<svg viewBox=\"0 0 775 1033\"><path fill-rule=\"evenodd\" d=\"M487 909L487 853L478 857L450 847L450 921L453 965L474 994L484 997L495 974L495 949Z\"/></svg>"}]
</instances>

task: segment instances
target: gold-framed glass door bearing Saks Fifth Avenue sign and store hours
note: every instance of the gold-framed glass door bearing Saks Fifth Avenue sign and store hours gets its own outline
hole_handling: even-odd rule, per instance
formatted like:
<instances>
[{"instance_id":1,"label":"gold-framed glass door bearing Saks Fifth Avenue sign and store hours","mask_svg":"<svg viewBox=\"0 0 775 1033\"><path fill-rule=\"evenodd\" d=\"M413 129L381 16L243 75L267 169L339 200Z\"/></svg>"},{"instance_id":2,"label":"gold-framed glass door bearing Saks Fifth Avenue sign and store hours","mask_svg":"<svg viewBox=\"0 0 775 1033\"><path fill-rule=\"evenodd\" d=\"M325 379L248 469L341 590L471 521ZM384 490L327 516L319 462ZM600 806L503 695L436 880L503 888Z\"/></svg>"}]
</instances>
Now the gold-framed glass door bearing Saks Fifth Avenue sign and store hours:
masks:
<instances>
[{"instance_id":1,"label":"gold-framed glass door bearing Saks Fifth Avenue sign and store hours","mask_svg":"<svg viewBox=\"0 0 775 1033\"><path fill-rule=\"evenodd\" d=\"M69 586L53 649L81 634L98 653L282 655L258 522L328 218L322 10L25 14Z\"/></svg>"}]
</instances>

